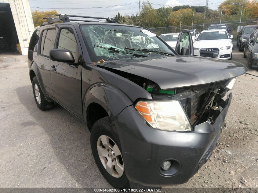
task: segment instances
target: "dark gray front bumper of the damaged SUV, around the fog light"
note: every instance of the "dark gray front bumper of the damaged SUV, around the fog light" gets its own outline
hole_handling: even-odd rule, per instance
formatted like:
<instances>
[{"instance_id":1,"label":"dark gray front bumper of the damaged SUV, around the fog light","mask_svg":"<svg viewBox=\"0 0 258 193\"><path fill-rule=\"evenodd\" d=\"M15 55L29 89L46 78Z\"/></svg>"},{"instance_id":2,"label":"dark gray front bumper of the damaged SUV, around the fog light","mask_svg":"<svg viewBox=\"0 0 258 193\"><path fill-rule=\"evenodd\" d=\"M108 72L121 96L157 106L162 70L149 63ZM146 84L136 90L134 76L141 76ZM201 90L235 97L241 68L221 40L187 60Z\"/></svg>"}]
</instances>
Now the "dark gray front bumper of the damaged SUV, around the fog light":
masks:
<instances>
[{"instance_id":1,"label":"dark gray front bumper of the damaged SUV, around the fog light","mask_svg":"<svg viewBox=\"0 0 258 193\"><path fill-rule=\"evenodd\" d=\"M125 108L115 124L128 179L144 186L186 183L206 163L218 144L231 98L232 93L214 124L206 121L191 132L152 129L133 106ZM160 172L161 163L167 159L179 163L173 175Z\"/></svg>"}]
</instances>

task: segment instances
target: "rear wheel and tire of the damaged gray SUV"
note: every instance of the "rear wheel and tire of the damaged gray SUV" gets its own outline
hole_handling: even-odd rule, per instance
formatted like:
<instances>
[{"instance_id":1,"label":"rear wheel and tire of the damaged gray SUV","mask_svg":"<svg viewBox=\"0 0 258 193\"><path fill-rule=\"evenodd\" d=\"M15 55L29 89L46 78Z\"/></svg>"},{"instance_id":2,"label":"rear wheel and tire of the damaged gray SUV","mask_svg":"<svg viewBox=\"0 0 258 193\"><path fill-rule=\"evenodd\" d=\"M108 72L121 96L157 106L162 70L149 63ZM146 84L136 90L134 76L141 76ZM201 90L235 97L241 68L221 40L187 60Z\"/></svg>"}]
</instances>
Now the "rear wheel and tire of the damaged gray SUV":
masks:
<instances>
[{"instance_id":1,"label":"rear wheel and tire of the damaged gray SUV","mask_svg":"<svg viewBox=\"0 0 258 193\"><path fill-rule=\"evenodd\" d=\"M34 77L32 80L32 90L35 102L38 108L42 111L53 108L54 102L48 102L40 88L37 77Z\"/></svg>"}]
</instances>

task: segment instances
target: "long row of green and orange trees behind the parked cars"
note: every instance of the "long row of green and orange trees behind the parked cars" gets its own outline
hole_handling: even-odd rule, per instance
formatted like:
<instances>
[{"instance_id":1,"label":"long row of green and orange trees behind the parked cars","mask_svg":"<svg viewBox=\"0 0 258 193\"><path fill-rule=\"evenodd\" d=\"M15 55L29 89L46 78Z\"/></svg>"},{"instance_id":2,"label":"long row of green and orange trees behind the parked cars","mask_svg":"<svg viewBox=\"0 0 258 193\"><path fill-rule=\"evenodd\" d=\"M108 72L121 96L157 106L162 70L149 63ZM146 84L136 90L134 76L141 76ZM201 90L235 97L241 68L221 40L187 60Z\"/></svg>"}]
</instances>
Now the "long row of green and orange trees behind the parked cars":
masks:
<instances>
[{"instance_id":1,"label":"long row of green and orange trees behind the parked cars","mask_svg":"<svg viewBox=\"0 0 258 193\"><path fill-rule=\"evenodd\" d=\"M226 0L219 5L218 10L206 8L205 23L239 20L243 6L242 20L255 19L258 17L258 0ZM140 15L120 16L120 21L125 24L136 25L146 28L191 25L203 23L205 6L180 5L174 7L161 7L154 9L150 2L143 2ZM120 15L120 13L118 13ZM118 15L115 18L118 18Z\"/></svg>"}]
</instances>

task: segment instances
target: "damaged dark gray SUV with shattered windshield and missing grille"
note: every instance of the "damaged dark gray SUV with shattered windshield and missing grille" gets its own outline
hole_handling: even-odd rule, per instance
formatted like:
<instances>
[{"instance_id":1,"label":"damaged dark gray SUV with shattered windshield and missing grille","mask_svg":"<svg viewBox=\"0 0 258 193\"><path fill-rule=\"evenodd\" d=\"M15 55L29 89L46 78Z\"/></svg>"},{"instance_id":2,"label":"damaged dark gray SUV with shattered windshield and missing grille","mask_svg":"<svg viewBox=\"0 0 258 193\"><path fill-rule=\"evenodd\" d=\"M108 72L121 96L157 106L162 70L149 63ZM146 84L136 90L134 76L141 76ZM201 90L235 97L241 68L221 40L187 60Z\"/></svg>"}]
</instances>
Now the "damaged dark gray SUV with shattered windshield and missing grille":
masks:
<instances>
[{"instance_id":1,"label":"damaged dark gray SUV with shattered windshield and missing grille","mask_svg":"<svg viewBox=\"0 0 258 193\"><path fill-rule=\"evenodd\" d=\"M218 144L229 91L247 68L193 56L189 30L173 50L143 27L69 17L49 18L32 35L38 108L57 102L85 122L96 164L116 188L187 182Z\"/></svg>"}]
</instances>

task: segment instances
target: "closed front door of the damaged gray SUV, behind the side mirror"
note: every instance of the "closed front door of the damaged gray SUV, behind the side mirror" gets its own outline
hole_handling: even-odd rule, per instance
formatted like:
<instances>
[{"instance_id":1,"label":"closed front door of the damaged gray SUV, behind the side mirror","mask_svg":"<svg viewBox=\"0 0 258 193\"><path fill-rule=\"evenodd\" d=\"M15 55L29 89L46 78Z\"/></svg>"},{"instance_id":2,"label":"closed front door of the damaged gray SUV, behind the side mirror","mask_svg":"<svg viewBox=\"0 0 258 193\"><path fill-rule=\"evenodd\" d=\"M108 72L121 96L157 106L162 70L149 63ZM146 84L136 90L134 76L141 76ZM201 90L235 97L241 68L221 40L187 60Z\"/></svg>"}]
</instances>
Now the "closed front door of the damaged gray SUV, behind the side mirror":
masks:
<instances>
[{"instance_id":1,"label":"closed front door of the damaged gray SUV, behind the side mirror","mask_svg":"<svg viewBox=\"0 0 258 193\"><path fill-rule=\"evenodd\" d=\"M75 28L71 25L62 25L58 30L54 49L69 50L74 57L74 63L51 60L51 82L56 102L76 116L83 118L81 94L82 63L79 61L82 51L78 46L78 36L75 32Z\"/></svg>"}]
</instances>

